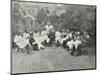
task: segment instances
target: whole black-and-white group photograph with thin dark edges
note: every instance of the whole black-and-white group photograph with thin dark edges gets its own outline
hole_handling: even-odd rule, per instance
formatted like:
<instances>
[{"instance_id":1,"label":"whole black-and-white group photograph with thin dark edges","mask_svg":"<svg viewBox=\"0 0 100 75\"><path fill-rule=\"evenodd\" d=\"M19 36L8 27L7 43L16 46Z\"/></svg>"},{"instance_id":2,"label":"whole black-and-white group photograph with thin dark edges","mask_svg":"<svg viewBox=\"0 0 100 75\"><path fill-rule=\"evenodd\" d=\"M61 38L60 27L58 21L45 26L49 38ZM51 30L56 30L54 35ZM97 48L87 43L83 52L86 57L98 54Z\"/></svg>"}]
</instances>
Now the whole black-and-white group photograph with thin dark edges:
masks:
<instances>
[{"instance_id":1,"label":"whole black-and-white group photograph with thin dark edges","mask_svg":"<svg viewBox=\"0 0 100 75\"><path fill-rule=\"evenodd\" d=\"M96 69L96 5L11 0L11 73Z\"/></svg>"}]
</instances>

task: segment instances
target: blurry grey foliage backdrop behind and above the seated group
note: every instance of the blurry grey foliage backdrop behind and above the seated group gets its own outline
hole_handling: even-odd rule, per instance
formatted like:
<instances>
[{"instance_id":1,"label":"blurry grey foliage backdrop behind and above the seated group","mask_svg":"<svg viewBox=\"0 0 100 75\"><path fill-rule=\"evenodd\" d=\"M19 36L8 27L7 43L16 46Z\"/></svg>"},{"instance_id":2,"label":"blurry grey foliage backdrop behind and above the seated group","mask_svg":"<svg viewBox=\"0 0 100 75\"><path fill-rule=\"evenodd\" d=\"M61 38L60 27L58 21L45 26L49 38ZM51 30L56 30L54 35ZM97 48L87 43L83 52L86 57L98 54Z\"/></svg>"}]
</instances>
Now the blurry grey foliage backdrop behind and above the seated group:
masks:
<instances>
[{"instance_id":1,"label":"blurry grey foliage backdrop behind and above the seated group","mask_svg":"<svg viewBox=\"0 0 100 75\"><path fill-rule=\"evenodd\" d=\"M96 39L95 6L12 2L13 34L25 30L42 30L48 21L55 30L87 31L94 41Z\"/></svg>"}]
</instances>

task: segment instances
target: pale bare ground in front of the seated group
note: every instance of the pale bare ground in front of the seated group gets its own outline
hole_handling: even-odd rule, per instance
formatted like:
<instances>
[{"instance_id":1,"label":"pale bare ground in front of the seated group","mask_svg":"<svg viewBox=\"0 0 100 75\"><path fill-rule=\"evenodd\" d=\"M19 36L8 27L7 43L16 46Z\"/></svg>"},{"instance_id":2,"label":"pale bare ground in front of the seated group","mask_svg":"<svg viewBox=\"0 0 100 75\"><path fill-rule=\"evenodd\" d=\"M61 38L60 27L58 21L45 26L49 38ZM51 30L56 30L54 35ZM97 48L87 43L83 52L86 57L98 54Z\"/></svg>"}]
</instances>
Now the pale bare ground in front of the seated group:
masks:
<instances>
[{"instance_id":1,"label":"pale bare ground in front of the seated group","mask_svg":"<svg viewBox=\"0 0 100 75\"><path fill-rule=\"evenodd\" d=\"M95 68L95 56L74 57L62 48L45 48L31 54L12 51L12 72L43 72Z\"/></svg>"}]
</instances>

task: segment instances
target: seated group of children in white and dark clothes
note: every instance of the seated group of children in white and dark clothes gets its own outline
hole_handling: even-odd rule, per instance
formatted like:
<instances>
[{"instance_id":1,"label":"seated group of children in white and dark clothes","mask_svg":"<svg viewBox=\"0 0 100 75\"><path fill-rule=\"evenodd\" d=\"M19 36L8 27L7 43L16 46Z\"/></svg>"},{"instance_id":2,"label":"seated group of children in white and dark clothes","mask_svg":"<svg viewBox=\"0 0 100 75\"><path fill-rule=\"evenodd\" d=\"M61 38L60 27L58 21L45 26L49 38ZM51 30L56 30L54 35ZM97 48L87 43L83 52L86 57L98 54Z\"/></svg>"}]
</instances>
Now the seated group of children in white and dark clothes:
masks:
<instances>
[{"instance_id":1,"label":"seated group of children in white and dark clothes","mask_svg":"<svg viewBox=\"0 0 100 75\"><path fill-rule=\"evenodd\" d=\"M38 30L27 32L26 30L23 34L17 33L14 37L14 43L18 46L18 51L23 51L26 48L27 53L29 53L30 45L33 47L33 50L40 50L54 44L56 47L68 47L68 50L73 55L75 51L80 54L78 48L83 42L87 42L85 38L90 38L87 32L70 31L68 29L55 30L53 25L49 23L41 32Z\"/></svg>"}]
</instances>

